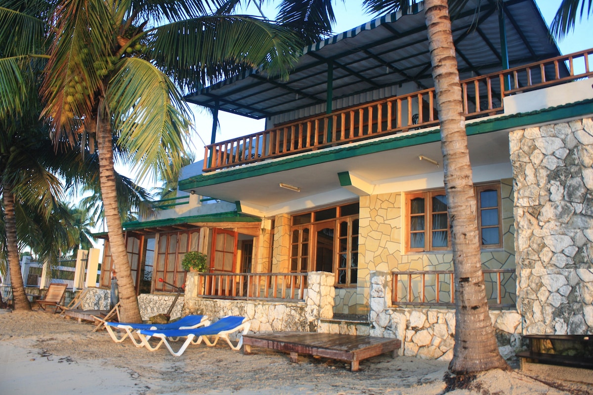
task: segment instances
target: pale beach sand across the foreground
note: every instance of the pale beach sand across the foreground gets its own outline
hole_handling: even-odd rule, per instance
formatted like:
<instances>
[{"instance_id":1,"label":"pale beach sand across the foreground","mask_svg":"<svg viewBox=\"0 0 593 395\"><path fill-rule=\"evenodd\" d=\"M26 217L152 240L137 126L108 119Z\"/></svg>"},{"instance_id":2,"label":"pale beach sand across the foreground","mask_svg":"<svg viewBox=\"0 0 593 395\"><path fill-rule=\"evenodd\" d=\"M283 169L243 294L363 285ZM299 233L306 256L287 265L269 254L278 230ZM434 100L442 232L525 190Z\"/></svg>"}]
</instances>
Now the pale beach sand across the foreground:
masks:
<instances>
[{"instance_id":1,"label":"pale beach sand across the foreground","mask_svg":"<svg viewBox=\"0 0 593 395\"><path fill-rule=\"evenodd\" d=\"M0 394L442 394L447 362L389 355L365 359L358 372L326 358L226 344L190 346L181 357L165 349L114 343L88 323L44 312L0 313ZM549 368L549 367L548 367ZM577 370L579 376L579 371ZM591 375L582 370L581 375ZM554 376L554 378L552 378ZM478 375L450 394L593 394L593 384L499 370ZM574 380L574 379L573 379Z\"/></svg>"}]
</instances>

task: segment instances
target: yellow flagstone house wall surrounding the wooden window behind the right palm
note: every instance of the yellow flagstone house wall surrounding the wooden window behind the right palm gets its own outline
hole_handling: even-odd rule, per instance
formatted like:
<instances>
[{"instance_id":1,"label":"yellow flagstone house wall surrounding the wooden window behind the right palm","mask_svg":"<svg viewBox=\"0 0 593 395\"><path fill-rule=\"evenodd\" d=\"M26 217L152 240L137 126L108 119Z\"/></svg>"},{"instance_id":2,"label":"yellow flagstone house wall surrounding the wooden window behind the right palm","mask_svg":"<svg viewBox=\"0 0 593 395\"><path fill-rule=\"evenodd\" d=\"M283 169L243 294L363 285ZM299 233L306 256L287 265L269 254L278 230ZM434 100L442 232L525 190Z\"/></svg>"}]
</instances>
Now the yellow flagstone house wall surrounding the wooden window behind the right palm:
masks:
<instances>
[{"instance_id":1,"label":"yellow flagstone house wall surrounding the wooden window behind the right palm","mask_svg":"<svg viewBox=\"0 0 593 395\"><path fill-rule=\"evenodd\" d=\"M512 179L500 180L502 214L502 249L483 249L482 264L488 269L515 268L515 224L513 218L514 192ZM390 193L362 196L360 201L358 303L369 303L369 278L373 271L422 271L452 270L453 256L450 251L431 253L404 253L403 240L403 194ZM426 286L427 298L435 293L434 277L426 277L433 284ZM489 296L496 294L495 276L486 276ZM419 279L417 280L419 281ZM502 303L515 303L515 276L503 275ZM416 289L418 284L413 284ZM441 298L449 298L449 284L441 284ZM398 287L400 297L407 294L407 278ZM419 294L416 293L418 298Z\"/></svg>"}]
</instances>

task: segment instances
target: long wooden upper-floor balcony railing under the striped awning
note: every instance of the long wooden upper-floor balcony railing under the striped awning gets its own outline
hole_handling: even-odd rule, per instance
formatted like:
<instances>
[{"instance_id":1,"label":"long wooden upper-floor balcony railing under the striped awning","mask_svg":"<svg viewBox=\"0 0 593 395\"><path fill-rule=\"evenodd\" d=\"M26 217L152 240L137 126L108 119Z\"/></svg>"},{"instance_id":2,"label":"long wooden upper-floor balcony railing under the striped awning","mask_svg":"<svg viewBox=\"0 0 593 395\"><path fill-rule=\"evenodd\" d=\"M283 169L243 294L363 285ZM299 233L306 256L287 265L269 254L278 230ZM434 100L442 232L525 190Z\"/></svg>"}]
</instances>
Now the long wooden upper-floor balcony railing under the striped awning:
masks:
<instances>
[{"instance_id":1,"label":"long wooden upper-floor balcony railing under the striped awning","mask_svg":"<svg viewBox=\"0 0 593 395\"><path fill-rule=\"evenodd\" d=\"M466 118L503 111L502 99L593 74L593 49L461 81ZM565 63L569 76L560 75ZM575 68L575 64L580 66ZM584 72L575 73L575 69ZM205 172L438 124L435 89L381 99L206 146Z\"/></svg>"}]
</instances>

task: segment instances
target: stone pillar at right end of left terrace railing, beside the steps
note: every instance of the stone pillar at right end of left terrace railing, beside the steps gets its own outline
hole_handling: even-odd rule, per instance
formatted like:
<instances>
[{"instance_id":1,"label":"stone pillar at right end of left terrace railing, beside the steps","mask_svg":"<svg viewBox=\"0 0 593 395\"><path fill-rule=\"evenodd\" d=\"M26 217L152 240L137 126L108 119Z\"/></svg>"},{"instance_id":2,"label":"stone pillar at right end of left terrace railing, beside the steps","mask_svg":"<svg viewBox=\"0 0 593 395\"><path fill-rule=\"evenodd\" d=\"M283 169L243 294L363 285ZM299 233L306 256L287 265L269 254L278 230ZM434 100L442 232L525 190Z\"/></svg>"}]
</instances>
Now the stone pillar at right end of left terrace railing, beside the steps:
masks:
<instances>
[{"instance_id":1,"label":"stone pillar at right end of left terrace railing, beside the steps","mask_svg":"<svg viewBox=\"0 0 593 395\"><path fill-rule=\"evenodd\" d=\"M319 319L333 318L334 275L327 272L310 272L307 277L307 309L305 315L309 323L309 332L317 332Z\"/></svg>"}]
</instances>

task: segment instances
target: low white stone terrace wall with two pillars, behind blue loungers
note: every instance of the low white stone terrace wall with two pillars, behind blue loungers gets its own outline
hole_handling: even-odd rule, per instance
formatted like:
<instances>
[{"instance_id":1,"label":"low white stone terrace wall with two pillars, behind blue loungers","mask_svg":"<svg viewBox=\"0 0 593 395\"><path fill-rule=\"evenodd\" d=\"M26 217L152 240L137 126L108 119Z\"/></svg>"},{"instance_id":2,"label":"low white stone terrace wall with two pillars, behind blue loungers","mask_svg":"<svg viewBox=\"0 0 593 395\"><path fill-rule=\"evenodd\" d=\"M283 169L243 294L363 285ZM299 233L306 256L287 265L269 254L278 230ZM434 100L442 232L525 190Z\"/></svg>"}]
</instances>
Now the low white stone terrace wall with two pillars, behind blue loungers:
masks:
<instances>
[{"instance_id":1,"label":"low white stone terrace wall with two pillars, behind blue loungers","mask_svg":"<svg viewBox=\"0 0 593 395\"><path fill-rule=\"evenodd\" d=\"M320 319L333 316L334 275L310 272L304 302L265 300L222 300L197 296L197 275L187 274L186 299L183 315L206 314L211 319L227 315L245 316L250 332L278 332L298 330L317 332Z\"/></svg>"}]
</instances>

